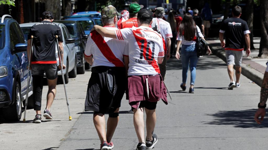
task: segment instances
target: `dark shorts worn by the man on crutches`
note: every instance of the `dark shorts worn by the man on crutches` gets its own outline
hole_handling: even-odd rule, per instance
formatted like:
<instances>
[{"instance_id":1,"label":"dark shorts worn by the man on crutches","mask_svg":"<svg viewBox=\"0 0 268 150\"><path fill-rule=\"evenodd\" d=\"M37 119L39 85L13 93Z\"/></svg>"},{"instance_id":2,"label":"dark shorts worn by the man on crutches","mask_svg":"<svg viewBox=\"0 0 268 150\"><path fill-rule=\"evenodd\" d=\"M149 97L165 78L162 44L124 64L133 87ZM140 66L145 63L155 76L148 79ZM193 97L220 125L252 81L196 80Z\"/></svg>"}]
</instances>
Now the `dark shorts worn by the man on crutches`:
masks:
<instances>
[{"instance_id":1,"label":"dark shorts worn by the man on crutches","mask_svg":"<svg viewBox=\"0 0 268 150\"><path fill-rule=\"evenodd\" d=\"M58 77L57 64L31 64L33 76L44 76L49 80L54 80Z\"/></svg>"}]
</instances>

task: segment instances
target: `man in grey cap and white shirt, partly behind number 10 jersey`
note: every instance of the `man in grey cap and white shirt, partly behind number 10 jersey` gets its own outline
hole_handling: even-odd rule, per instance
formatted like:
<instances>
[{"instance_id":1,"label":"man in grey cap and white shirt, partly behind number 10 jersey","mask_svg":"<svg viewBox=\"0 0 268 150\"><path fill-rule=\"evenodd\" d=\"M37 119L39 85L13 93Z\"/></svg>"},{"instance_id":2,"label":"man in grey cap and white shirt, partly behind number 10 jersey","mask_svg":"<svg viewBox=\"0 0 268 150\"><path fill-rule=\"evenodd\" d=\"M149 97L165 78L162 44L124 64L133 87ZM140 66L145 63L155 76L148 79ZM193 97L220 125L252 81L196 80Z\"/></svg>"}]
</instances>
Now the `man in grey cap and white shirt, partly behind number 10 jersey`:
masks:
<instances>
[{"instance_id":1,"label":"man in grey cap and white shirt, partly behind number 10 jersey","mask_svg":"<svg viewBox=\"0 0 268 150\"><path fill-rule=\"evenodd\" d=\"M165 51L163 63L159 64L161 76L163 80L165 80L166 63L167 60L170 58L171 38L173 37L173 35L169 22L163 20L163 17L165 15L165 9L163 7L157 7L155 10L155 15L156 18L152 19L152 28L162 35L163 40L165 41L164 44L167 46L167 48L165 48L167 49L167 51Z\"/></svg>"}]
</instances>

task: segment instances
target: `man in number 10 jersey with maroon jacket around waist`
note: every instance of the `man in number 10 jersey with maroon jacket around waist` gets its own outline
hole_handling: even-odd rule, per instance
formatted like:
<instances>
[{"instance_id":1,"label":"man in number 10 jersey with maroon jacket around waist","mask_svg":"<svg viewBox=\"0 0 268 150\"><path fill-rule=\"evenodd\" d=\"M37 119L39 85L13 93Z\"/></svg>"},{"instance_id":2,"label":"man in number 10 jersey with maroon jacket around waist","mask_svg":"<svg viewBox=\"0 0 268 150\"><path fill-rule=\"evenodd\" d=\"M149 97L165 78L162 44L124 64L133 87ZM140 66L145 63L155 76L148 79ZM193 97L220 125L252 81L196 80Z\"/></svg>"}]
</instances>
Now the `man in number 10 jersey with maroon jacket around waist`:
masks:
<instances>
[{"instance_id":1,"label":"man in number 10 jersey with maroon jacket around waist","mask_svg":"<svg viewBox=\"0 0 268 150\"><path fill-rule=\"evenodd\" d=\"M162 99L168 104L166 88L162 82L158 64L164 57L164 46L161 34L149 25L152 12L142 9L137 14L139 27L109 31L95 25L94 28L103 36L126 40L129 42L129 57L124 56L128 70L127 99L134 111L134 127L139 143L137 150L152 149L158 141L154 133L156 123L156 105ZM129 65L127 65L129 64ZM146 112L146 140L144 140L143 112Z\"/></svg>"}]
</instances>

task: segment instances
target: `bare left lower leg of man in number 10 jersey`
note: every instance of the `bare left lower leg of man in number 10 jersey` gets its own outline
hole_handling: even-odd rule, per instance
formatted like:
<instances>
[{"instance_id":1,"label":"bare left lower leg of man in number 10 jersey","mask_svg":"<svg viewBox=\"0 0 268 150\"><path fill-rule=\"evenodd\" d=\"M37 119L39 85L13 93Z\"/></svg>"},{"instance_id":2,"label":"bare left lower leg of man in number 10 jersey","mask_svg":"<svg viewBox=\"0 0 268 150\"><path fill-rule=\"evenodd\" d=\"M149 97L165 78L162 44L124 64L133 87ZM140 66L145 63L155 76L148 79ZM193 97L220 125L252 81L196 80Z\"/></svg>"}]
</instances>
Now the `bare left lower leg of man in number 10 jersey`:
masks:
<instances>
[{"instance_id":1,"label":"bare left lower leg of man in number 10 jersey","mask_svg":"<svg viewBox=\"0 0 268 150\"><path fill-rule=\"evenodd\" d=\"M139 143L145 143L144 141L144 121L143 121L143 108L134 109L134 127L136 130L137 137L139 139Z\"/></svg>"}]
</instances>

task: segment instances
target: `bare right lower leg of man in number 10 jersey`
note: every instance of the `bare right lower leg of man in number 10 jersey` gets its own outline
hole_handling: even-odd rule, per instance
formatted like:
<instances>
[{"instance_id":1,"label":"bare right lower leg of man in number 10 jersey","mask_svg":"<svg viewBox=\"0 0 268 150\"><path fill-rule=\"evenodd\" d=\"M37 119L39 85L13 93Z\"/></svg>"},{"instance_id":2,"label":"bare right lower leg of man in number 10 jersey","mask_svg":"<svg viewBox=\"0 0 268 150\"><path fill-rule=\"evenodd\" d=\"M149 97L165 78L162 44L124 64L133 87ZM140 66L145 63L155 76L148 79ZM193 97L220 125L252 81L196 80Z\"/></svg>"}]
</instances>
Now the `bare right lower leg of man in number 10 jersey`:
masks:
<instances>
[{"instance_id":1,"label":"bare right lower leg of man in number 10 jersey","mask_svg":"<svg viewBox=\"0 0 268 150\"><path fill-rule=\"evenodd\" d=\"M156 123L156 113L155 109L149 110L146 108L145 112L146 112L146 131L147 131L146 140L152 141L152 134L154 133L154 127Z\"/></svg>"}]
</instances>

